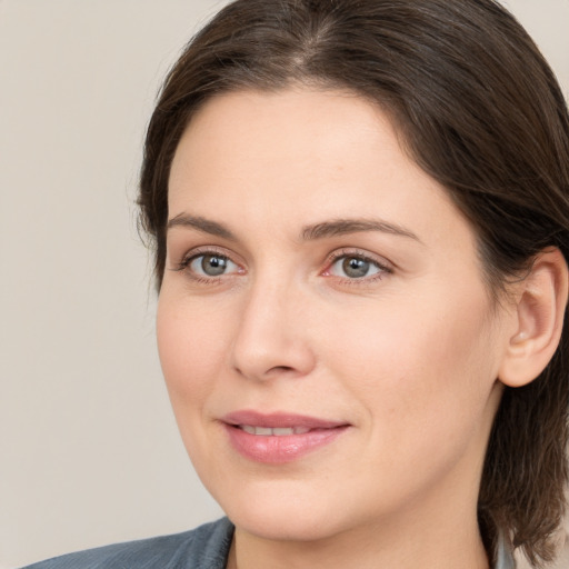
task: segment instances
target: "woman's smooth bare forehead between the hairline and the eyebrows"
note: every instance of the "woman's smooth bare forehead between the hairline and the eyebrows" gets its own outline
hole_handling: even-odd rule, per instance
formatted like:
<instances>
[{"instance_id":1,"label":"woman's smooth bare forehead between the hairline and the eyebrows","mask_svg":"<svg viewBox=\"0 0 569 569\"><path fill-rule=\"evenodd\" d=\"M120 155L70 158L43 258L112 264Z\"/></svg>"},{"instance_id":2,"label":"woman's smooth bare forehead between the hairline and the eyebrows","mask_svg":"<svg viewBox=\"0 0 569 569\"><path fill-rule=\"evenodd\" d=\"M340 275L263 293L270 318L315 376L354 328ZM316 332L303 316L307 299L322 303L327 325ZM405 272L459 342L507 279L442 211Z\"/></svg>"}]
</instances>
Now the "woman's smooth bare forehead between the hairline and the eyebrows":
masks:
<instances>
[{"instance_id":1,"label":"woman's smooth bare forehead between the hairline and the eyebrows","mask_svg":"<svg viewBox=\"0 0 569 569\"><path fill-rule=\"evenodd\" d=\"M206 103L177 149L169 209L170 218L214 212L249 227L372 214L439 238L450 226L465 229L446 190L401 149L378 106L351 92L302 88L238 91Z\"/></svg>"}]
</instances>

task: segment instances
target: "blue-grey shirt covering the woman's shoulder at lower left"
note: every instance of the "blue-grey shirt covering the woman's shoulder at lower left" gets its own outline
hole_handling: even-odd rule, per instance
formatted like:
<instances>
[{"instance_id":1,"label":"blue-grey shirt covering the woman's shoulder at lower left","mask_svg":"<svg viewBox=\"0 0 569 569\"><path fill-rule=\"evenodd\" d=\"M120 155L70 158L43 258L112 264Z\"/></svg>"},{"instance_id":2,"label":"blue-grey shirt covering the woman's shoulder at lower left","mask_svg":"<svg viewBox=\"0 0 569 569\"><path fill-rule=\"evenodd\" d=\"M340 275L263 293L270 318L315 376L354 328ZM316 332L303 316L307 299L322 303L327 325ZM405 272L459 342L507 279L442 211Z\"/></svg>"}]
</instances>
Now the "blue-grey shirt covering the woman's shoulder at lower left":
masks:
<instances>
[{"instance_id":1,"label":"blue-grey shirt covering the woman's shoulder at lower left","mask_svg":"<svg viewBox=\"0 0 569 569\"><path fill-rule=\"evenodd\" d=\"M227 518L199 528L88 549L23 569L224 569L233 526Z\"/></svg>"}]
</instances>

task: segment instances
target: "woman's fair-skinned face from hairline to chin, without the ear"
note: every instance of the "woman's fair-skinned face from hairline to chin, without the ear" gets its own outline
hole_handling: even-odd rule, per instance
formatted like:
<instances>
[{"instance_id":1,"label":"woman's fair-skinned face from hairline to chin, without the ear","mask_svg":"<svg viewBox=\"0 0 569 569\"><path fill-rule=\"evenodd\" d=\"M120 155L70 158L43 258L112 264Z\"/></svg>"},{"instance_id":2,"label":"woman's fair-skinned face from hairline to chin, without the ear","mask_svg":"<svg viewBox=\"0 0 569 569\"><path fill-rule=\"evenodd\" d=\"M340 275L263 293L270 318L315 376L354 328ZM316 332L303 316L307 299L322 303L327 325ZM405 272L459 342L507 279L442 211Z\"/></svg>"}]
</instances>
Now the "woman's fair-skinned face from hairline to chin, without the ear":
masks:
<instances>
[{"instance_id":1,"label":"woman's fair-skinned face from hairline to chin, without the ear","mask_svg":"<svg viewBox=\"0 0 569 569\"><path fill-rule=\"evenodd\" d=\"M169 220L161 363L239 528L476 517L511 326L469 223L381 110L301 88L211 100L178 147Z\"/></svg>"}]
</instances>

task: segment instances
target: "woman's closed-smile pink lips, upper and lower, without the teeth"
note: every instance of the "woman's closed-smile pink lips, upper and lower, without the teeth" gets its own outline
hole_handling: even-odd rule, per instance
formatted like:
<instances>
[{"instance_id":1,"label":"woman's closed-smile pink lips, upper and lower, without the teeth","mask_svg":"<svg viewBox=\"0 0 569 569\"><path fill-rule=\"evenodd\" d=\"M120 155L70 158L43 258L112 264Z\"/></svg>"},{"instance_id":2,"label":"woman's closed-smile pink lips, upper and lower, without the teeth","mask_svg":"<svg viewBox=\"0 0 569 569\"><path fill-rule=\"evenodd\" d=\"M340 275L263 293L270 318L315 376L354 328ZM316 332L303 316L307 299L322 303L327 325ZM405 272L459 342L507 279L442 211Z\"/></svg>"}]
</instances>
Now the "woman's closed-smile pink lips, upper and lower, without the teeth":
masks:
<instances>
[{"instance_id":1,"label":"woman's closed-smile pink lips, upper and lower, without the teeth","mask_svg":"<svg viewBox=\"0 0 569 569\"><path fill-rule=\"evenodd\" d=\"M345 432L346 422L329 421L316 417L292 413L259 413L257 411L236 411L221 419L233 448L249 460L264 463L284 463L297 460L332 442ZM251 435L239 426L264 428L310 429L299 435Z\"/></svg>"}]
</instances>

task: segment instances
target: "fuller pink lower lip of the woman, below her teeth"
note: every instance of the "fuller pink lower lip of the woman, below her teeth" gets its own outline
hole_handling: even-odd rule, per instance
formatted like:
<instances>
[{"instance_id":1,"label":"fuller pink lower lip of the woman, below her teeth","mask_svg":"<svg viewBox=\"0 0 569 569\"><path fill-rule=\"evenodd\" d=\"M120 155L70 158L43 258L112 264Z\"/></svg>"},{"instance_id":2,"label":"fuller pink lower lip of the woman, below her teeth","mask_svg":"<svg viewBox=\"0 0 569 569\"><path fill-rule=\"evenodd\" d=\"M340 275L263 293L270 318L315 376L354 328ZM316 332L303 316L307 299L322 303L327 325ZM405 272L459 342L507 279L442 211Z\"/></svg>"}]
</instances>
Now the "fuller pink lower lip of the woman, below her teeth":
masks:
<instances>
[{"instance_id":1,"label":"fuller pink lower lip of the woman, below her teeth","mask_svg":"<svg viewBox=\"0 0 569 569\"><path fill-rule=\"evenodd\" d=\"M303 435L263 436L250 435L239 427L224 425L233 448L254 462L281 465L292 462L306 455L330 445L348 426L330 429L313 429Z\"/></svg>"}]
</instances>

